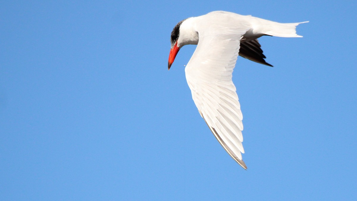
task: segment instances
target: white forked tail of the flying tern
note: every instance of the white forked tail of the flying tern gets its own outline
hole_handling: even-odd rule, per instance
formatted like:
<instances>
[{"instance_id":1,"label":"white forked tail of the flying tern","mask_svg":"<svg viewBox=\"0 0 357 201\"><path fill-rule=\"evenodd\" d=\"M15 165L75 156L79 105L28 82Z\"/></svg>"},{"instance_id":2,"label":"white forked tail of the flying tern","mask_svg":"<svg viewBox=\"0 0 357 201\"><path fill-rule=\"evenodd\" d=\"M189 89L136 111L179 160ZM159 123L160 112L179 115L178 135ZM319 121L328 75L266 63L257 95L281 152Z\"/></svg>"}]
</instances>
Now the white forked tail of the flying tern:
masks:
<instances>
[{"instance_id":1,"label":"white forked tail of the flying tern","mask_svg":"<svg viewBox=\"0 0 357 201\"><path fill-rule=\"evenodd\" d=\"M269 23L264 25L261 33L278 37L302 37L296 34L296 26L302 23L307 23L308 21L299 23L277 23L273 21L268 22Z\"/></svg>"}]
</instances>

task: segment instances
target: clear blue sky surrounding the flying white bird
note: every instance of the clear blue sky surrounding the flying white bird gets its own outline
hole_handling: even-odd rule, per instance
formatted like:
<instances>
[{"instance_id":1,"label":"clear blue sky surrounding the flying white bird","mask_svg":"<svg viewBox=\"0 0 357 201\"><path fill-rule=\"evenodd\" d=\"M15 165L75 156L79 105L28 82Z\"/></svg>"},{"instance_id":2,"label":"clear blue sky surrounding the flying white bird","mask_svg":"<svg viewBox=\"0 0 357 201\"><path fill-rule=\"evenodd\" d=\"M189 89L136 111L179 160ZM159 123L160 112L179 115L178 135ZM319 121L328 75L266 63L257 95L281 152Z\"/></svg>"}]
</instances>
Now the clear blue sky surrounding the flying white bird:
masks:
<instances>
[{"instance_id":1,"label":"clear blue sky surrounding the flying white bird","mask_svg":"<svg viewBox=\"0 0 357 201\"><path fill-rule=\"evenodd\" d=\"M352 200L355 1L1 1L0 200ZM353 2L353 3L352 3ZM241 168L198 113L176 23L214 10L292 23L238 58Z\"/></svg>"}]
</instances>

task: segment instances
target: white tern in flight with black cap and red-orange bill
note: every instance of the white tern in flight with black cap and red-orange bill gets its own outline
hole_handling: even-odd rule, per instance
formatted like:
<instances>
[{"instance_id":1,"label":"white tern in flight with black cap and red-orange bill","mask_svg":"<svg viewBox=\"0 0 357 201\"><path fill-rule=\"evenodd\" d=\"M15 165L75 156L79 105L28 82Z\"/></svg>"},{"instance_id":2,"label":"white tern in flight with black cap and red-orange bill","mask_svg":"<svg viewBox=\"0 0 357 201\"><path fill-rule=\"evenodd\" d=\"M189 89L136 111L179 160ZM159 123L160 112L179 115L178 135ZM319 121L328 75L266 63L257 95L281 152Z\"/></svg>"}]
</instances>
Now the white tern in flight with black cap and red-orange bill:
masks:
<instances>
[{"instance_id":1,"label":"white tern in flight with black cap and red-orange bill","mask_svg":"<svg viewBox=\"0 0 357 201\"><path fill-rule=\"evenodd\" d=\"M232 82L237 57L272 66L265 62L257 38L302 37L296 34L296 26L301 23L277 23L214 11L182 20L172 30L169 69L182 46L197 45L185 68L192 99L218 142L244 169L247 166L241 154L244 153L243 116Z\"/></svg>"}]
</instances>

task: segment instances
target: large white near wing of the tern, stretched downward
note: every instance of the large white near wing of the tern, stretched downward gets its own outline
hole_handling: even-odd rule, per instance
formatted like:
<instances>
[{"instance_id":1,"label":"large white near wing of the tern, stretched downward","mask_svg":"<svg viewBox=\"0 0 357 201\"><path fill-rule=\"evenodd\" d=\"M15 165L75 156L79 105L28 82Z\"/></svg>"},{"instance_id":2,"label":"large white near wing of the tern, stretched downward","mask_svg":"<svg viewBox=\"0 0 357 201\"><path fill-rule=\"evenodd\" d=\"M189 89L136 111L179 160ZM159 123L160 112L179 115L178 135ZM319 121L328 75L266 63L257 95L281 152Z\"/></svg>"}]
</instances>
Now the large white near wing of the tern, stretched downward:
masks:
<instances>
[{"instance_id":1,"label":"large white near wing of the tern, stretched downward","mask_svg":"<svg viewBox=\"0 0 357 201\"><path fill-rule=\"evenodd\" d=\"M210 24L210 27L198 30L197 48L185 68L192 99L202 118L223 148L245 169L247 166L241 155L244 153L243 116L232 72L240 40L248 29Z\"/></svg>"}]
</instances>

